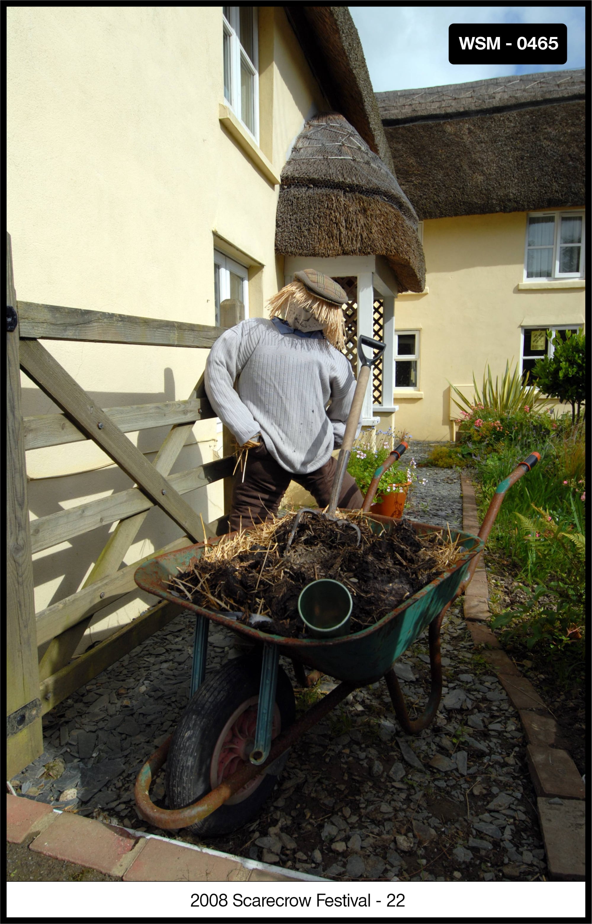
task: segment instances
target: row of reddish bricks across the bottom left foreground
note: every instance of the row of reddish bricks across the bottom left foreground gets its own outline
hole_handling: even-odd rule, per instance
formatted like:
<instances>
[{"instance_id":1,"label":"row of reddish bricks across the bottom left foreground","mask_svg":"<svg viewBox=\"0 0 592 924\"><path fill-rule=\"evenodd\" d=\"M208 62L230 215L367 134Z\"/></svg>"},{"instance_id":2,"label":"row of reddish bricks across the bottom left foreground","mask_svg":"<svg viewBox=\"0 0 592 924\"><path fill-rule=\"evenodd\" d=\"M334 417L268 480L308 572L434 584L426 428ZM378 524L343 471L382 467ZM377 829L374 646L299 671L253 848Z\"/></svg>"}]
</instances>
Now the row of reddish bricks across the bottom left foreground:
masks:
<instances>
[{"instance_id":1,"label":"row of reddish bricks across the bottom left foreground","mask_svg":"<svg viewBox=\"0 0 592 924\"><path fill-rule=\"evenodd\" d=\"M30 840L31 836L33 840ZM6 793L6 840L124 882L324 881L246 857L140 834Z\"/></svg>"}]
</instances>

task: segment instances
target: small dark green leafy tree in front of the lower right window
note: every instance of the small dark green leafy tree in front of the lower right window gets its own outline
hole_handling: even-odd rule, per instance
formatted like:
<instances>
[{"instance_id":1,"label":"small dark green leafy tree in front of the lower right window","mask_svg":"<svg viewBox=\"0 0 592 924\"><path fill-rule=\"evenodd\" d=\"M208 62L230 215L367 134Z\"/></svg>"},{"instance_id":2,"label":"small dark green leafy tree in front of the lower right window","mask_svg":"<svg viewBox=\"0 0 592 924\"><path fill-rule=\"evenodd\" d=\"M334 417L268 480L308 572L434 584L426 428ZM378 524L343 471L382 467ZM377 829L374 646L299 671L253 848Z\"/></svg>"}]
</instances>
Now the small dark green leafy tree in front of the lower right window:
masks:
<instances>
[{"instance_id":1,"label":"small dark green leafy tree in front of the lower right window","mask_svg":"<svg viewBox=\"0 0 592 924\"><path fill-rule=\"evenodd\" d=\"M550 331L547 332L547 336L551 338ZM533 382L537 383L544 395L571 404L572 424L575 420L579 423L580 408L586 400L586 334L572 334L571 331L566 331L565 340L556 334L552 344L552 357L538 359L535 363L535 368L531 372Z\"/></svg>"}]
</instances>

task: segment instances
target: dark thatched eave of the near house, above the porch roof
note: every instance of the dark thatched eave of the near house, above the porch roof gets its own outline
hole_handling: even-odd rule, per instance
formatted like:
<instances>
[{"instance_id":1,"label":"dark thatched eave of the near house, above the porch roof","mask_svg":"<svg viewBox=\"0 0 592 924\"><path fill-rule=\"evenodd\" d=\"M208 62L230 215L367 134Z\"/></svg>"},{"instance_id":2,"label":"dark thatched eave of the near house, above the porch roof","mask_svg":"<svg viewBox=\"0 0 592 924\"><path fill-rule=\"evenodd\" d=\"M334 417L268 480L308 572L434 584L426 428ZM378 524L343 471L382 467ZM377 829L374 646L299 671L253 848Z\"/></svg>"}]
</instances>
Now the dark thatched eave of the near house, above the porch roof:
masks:
<instances>
[{"instance_id":1,"label":"dark thatched eave of the near house, above the porch roof","mask_svg":"<svg viewBox=\"0 0 592 924\"><path fill-rule=\"evenodd\" d=\"M381 114L354 20L347 6L284 6L329 107L342 113L394 172Z\"/></svg>"}]
</instances>

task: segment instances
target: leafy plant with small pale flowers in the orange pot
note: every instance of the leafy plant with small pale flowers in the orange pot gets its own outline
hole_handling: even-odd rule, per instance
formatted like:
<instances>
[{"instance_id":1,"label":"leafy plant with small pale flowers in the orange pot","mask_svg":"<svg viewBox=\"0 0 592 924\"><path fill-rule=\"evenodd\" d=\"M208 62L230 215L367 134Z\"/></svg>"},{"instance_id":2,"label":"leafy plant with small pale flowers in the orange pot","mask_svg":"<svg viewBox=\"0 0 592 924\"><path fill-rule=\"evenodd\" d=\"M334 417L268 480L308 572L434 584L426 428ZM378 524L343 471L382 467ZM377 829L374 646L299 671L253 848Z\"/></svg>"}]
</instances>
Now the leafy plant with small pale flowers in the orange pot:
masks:
<instances>
[{"instance_id":1,"label":"leafy plant with small pale flowers in the orange pot","mask_svg":"<svg viewBox=\"0 0 592 924\"><path fill-rule=\"evenodd\" d=\"M376 432L376 442L373 447L370 443L372 434L364 433L357 438L349 456L347 471L356 479L356 484L363 494L368 492L370 481L374 477L376 469L384 462L385 458L391 453L393 444L393 432L391 430ZM411 439L407 433L405 439ZM376 492L375 503L381 504L385 494L392 492L403 492L404 485L417 482L416 460L405 460L405 456L398 462L394 462L391 468L382 475ZM427 479L421 479L421 483L426 484Z\"/></svg>"}]
</instances>

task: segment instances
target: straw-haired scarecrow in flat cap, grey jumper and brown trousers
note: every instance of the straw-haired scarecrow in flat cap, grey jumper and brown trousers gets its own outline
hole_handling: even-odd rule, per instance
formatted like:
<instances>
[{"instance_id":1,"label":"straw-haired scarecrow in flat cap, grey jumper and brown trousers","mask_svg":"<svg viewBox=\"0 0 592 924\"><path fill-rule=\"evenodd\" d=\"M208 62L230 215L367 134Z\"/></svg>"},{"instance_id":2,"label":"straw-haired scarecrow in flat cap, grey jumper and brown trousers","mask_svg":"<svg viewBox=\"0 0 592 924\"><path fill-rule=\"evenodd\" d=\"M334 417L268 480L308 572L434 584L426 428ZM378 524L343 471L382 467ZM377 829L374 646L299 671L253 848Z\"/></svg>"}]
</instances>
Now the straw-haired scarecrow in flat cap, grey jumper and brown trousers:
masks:
<instances>
[{"instance_id":1,"label":"straw-haired scarecrow in flat cap, grey jumper and brown trousers","mask_svg":"<svg viewBox=\"0 0 592 924\"><path fill-rule=\"evenodd\" d=\"M225 331L206 363L206 392L235 435L242 470L232 494L230 530L248 529L278 511L291 480L322 508L356 380L344 354L347 296L331 277L302 270L270 299L270 319L250 318ZM359 508L348 475L340 507Z\"/></svg>"}]
</instances>

